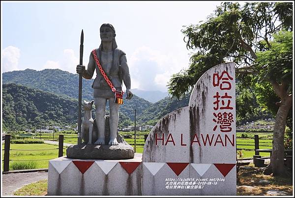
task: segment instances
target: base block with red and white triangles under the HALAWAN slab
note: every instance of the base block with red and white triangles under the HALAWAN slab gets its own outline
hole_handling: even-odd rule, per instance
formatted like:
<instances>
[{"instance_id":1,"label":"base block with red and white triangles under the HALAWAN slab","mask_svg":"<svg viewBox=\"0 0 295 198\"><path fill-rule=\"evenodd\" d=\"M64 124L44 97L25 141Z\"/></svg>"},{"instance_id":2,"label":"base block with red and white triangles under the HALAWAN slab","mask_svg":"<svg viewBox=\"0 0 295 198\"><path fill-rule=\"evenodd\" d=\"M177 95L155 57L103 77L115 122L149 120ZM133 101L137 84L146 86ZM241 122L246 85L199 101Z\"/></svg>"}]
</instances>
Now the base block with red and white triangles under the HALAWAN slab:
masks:
<instances>
[{"instance_id":1,"label":"base block with red and white triangles under the HALAWAN slab","mask_svg":"<svg viewBox=\"0 0 295 198\"><path fill-rule=\"evenodd\" d=\"M236 164L143 162L143 196L235 196Z\"/></svg>"}]
</instances>

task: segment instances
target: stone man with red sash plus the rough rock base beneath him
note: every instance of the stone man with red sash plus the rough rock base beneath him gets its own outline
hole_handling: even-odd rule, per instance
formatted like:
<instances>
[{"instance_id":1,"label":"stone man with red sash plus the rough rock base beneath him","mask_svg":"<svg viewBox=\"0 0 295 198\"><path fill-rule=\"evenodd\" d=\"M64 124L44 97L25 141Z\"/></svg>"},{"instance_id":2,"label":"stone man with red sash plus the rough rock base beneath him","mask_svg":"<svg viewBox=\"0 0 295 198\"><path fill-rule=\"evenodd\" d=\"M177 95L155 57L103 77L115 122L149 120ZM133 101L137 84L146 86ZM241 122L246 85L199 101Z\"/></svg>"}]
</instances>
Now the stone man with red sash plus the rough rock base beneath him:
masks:
<instances>
[{"instance_id":1,"label":"stone man with red sash plus the rough rock base beneath him","mask_svg":"<svg viewBox=\"0 0 295 198\"><path fill-rule=\"evenodd\" d=\"M131 80L125 53L118 49L116 31L111 24L100 27L101 44L90 53L87 69L77 65L77 73L91 79L94 71L93 97L95 104L95 121L90 142L70 146L67 157L73 159L131 159L133 148L118 135L119 106L123 104L122 81L126 86L126 99L131 99ZM110 116L106 119L107 101ZM82 137L83 138L83 137Z\"/></svg>"}]
</instances>

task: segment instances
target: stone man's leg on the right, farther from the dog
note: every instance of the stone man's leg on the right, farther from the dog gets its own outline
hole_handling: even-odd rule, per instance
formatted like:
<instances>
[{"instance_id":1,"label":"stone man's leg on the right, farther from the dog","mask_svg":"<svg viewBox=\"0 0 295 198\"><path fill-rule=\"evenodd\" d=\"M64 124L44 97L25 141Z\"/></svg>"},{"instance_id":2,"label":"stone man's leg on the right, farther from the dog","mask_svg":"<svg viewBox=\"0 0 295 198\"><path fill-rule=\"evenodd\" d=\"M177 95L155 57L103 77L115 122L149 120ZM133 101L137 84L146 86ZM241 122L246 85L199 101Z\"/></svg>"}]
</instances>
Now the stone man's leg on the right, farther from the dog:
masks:
<instances>
[{"instance_id":1,"label":"stone man's leg on the right, farther from the dog","mask_svg":"<svg viewBox=\"0 0 295 198\"><path fill-rule=\"evenodd\" d=\"M118 145L117 130L119 122L119 104L115 102L115 98L109 98L110 104L110 145Z\"/></svg>"}]
</instances>

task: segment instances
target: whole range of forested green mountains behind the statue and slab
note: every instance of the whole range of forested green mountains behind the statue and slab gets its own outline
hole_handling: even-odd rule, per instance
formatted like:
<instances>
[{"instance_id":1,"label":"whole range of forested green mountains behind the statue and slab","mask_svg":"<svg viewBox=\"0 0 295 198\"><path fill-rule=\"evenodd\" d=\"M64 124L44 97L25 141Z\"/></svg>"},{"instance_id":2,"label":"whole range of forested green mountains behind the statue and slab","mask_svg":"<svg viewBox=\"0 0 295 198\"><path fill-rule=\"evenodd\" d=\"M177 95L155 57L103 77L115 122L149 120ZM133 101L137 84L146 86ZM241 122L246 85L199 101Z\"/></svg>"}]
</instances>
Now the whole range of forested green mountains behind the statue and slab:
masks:
<instances>
[{"instance_id":1,"label":"whole range of forested green mountains behind the statue and slab","mask_svg":"<svg viewBox=\"0 0 295 198\"><path fill-rule=\"evenodd\" d=\"M78 77L78 74L59 69L3 73L3 125L20 128L51 120L60 124L75 124L78 118ZM93 100L92 82L93 79L83 79L82 100ZM126 98L125 94L123 98ZM152 104L134 95L131 100L124 99L124 104L120 106L119 127L133 124L135 109L138 124L154 125L164 115L187 106L188 100L189 96L180 101L166 97Z\"/></svg>"}]
</instances>

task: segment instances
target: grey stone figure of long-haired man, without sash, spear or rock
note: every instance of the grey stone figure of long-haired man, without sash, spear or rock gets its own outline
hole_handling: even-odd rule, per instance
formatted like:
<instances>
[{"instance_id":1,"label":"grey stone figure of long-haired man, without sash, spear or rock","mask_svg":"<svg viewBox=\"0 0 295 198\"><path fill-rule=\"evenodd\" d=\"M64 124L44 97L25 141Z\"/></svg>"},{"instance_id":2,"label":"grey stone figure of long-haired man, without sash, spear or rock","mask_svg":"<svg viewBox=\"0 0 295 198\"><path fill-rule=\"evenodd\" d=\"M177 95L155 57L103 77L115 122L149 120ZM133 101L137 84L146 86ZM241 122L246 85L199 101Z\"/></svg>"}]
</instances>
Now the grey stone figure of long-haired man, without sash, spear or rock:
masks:
<instances>
[{"instance_id":1,"label":"grey stone figure of long-haired man, without sash, spear or rock","mask_svg":"<svg viewBox=\"0 0 295 198\"><path fill-rule=\"evenodd\" d=\"M133 94L130 91L131 80L125 53L117 48L115 40L115 28L111 24L103 24L100 27L101 44L95 49L96 55L109 80L117 90L122 90L122 81L126 86L126 99L131 99ZM82 73L85 79L91 79L96 71L96 78L93 81L93 95L96 110L96 124L98 128L98 139L95 144L105 144L105 108L107 100L110 105L110 145L118 145L117 130L119 121L119 104L115 101L115 93L111 90L106 80L98 69L94 56L91 53L87 70L83 65L77 65L77 73Z\"/></svg>"}]
</instances>

